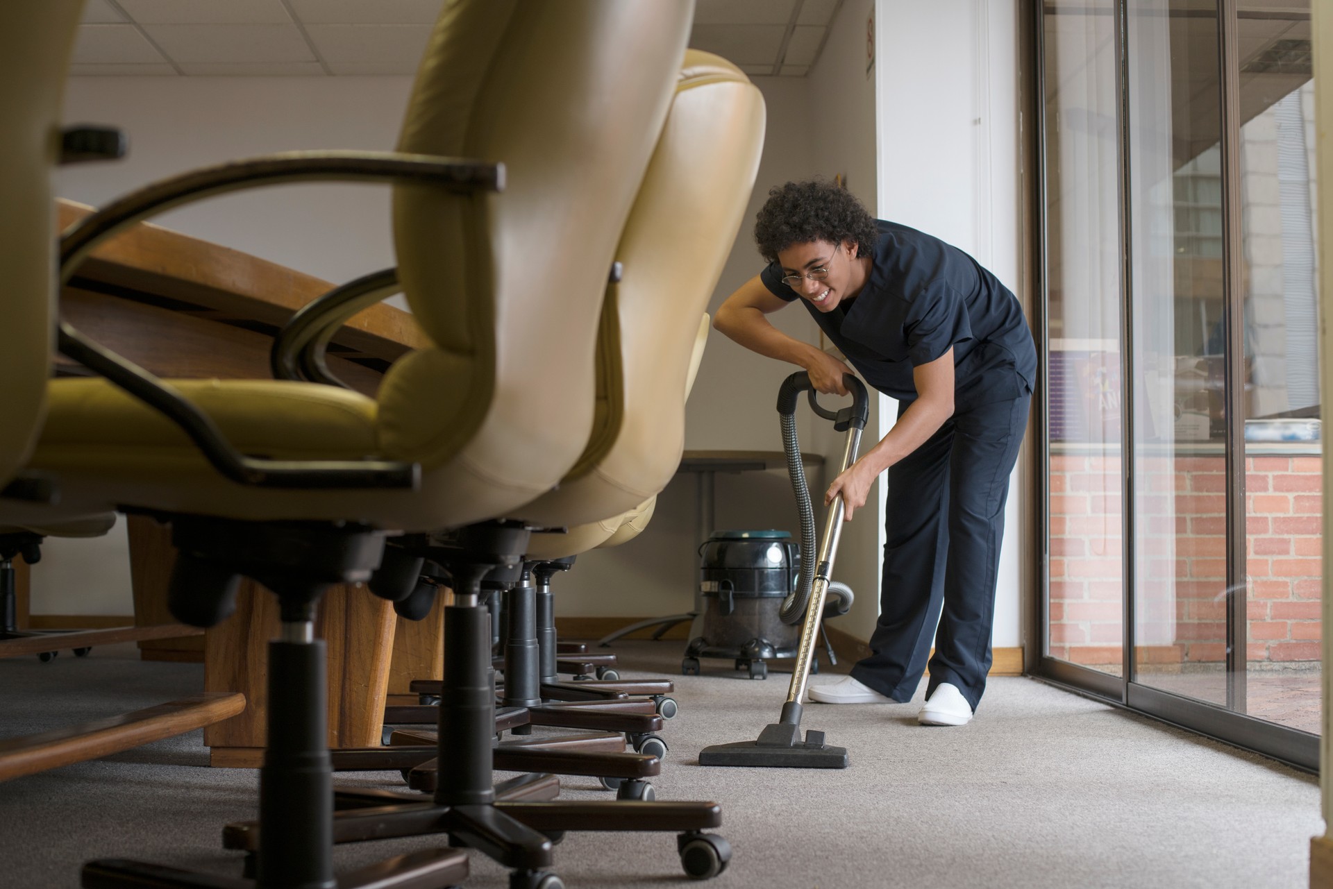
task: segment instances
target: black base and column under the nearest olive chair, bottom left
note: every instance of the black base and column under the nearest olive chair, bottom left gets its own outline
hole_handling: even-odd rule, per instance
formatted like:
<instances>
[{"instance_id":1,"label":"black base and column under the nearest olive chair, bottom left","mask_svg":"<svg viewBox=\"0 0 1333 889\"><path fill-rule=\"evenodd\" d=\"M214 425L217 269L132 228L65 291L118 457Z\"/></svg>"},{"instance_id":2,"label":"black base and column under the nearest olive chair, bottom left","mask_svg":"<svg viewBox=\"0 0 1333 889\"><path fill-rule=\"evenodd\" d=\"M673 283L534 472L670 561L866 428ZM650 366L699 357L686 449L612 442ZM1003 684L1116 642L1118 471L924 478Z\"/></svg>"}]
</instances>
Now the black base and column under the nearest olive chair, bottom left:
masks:
<instances>
[{"instance_id":1,"label":"black base and column under the nearest olive chair, bottom left","mask_svg":"<svg viewBox=\"0 0 1333 889\"><path fill-rule=\"evenodd\" d=\"M240 878L125 860L84 865L84 889L425 889L467 876L451 849L399 856L333 874L333 769L328 752L324 642L315 606L331 584L363 582L380 564L384 536L359 525L240 522L173 516L180 550L168 604L177 618L209 626L235 606L239 576L277 594L283 630L268 646L268 746L260 769L263 840ZM251 878L251 873L253 878Z\"/></svg>"}]
</instances>

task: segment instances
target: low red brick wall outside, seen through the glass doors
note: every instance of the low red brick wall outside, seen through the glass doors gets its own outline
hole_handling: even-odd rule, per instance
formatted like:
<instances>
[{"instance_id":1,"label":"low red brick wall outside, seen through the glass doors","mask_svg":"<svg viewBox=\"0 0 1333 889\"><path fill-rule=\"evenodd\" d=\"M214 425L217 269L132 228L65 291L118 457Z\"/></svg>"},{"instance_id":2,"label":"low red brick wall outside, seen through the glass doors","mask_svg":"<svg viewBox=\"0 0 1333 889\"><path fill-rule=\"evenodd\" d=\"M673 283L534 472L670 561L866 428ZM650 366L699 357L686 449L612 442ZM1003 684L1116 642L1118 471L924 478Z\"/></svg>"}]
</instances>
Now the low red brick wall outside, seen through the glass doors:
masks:
<instances>
[{"instance_id":1,"label":"low red brick wall outside, seen through the glass doors","mask_svg":"<svg viewBox=\"0 0 1333 889\"><path fill-rule=\"evenodd\" d=\"M1245 464L1248 657L1318 660L1321 460L1256 456ZM1121 661L1120 484L1118 456L1052 454L1052 657L1088 665ZM1140 662L1224 661L1222 457L1141 457L1137 485Z\"/></svg>"}]
</instances>

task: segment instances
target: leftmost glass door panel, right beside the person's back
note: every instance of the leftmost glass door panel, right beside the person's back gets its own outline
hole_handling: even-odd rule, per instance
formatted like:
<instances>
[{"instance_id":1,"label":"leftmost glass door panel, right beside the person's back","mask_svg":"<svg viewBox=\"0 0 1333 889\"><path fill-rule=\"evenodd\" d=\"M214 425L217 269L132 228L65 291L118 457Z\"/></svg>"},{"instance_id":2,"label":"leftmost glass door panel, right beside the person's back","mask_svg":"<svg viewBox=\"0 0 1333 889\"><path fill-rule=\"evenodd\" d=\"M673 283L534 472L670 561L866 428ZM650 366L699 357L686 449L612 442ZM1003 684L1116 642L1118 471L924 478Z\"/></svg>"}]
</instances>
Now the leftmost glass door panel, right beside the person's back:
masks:
<instances>
[{"instance_id":1,"label":"leftmost glass door panel, right beside the person's back","mask_svg":"<svg viewBox=\"0 0 1333 889\"><path fill-rule=\"evenodd\" d=\"M1044 7L1046 654L1120 676L1124 645L1114 7Z\"/></svg>"}]
</instances>

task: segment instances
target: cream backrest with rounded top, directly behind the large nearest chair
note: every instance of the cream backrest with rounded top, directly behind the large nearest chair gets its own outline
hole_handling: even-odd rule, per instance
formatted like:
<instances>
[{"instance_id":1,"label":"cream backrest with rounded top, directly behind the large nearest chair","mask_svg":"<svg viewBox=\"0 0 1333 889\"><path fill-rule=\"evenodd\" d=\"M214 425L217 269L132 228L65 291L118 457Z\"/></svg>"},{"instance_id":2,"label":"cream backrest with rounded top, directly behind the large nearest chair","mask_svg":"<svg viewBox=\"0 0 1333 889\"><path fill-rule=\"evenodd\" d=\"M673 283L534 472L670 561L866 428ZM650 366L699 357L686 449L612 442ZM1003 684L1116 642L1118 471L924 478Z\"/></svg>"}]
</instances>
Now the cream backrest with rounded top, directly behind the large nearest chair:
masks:
<instances>
[{"instance_id":1,"label":"cream backrest with rounded top, directly behind the large nearest chair","mask_svg":"<svg viewBox=\"0 0 1333 889\"><path fill-rule=\"evenodd\" d=\"M601 356L599 369L612 375L607 392L623 392L619 431L604 437L600 453L584 453L560 488L525 508L524 517L596 521L670 481L685 441L682 393L698 319L736 240L762 144L758 89L724 59L688 51L616 253L624 264L615 288L620 343Z\"/></svg>"}]
</instances>

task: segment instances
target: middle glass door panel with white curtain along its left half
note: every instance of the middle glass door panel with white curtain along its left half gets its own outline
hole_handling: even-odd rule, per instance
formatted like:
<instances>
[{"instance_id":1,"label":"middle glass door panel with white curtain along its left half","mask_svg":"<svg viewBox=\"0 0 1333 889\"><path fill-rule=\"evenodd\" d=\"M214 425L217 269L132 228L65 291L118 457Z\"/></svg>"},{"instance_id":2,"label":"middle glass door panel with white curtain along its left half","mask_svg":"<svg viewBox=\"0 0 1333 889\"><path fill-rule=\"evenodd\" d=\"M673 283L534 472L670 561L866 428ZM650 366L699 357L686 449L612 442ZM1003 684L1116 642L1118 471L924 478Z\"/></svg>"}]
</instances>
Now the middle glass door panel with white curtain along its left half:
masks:
<instances>
[{"instance_id":1,"label":"middle glass door panel with white curtain along its left half","mask_svg":"<svg viewBox=\"0 0 1333 889\"><path fill-rule=\"evenodd\" d=\"M1217 15L1129 0L1134 676L1226 702Z\"/></svg>"}]
</instances>

